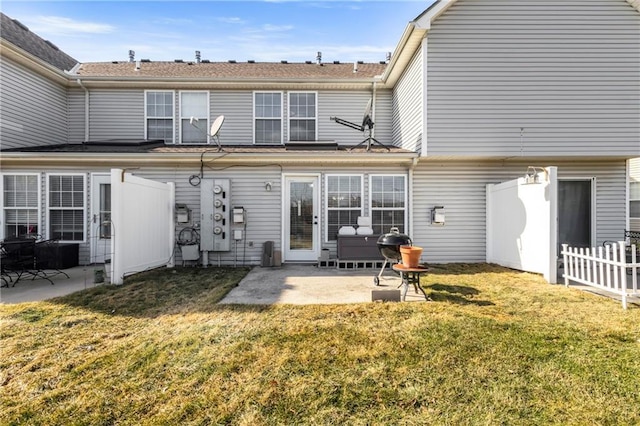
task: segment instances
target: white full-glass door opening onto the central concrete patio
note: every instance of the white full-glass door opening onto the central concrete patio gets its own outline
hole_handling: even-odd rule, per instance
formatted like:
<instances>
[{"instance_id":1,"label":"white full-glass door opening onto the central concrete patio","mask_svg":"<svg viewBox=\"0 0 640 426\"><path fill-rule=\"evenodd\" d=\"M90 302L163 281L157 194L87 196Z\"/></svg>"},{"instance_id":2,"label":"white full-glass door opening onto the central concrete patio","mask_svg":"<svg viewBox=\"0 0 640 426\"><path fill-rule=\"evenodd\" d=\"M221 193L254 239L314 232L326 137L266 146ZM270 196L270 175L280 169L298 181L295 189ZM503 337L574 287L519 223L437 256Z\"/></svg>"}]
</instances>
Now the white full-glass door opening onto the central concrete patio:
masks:
<instances>
[{"instance_id":1,"label":"white full-glass door opening onto the central concrete patio","mask_svg":"<svg viewBox=\"0 0 640 426\"><path fill-rule=\"evenodd\" d=\"M284 178L284 260L316 261L320 254L318 176Z\"/></svg>"}]
</instances>

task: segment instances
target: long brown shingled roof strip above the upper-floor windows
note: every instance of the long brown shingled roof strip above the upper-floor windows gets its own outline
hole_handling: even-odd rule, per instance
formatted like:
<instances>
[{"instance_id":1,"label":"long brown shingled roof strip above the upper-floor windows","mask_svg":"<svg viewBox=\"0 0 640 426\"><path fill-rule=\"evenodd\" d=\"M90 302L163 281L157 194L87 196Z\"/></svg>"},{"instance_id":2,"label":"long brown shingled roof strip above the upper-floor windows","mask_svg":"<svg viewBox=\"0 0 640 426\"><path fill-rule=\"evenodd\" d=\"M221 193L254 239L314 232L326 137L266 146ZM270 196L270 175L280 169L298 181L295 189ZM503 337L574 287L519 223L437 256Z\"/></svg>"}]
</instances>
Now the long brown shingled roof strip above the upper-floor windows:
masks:
<instances>
[{"instance_id":1,"label":"long brown shingled roof strip above the upper-floor windows","mask_svg":"<svg viewBox=\"0 0 640 426\"><path fill-rule=\"evenodd\" d=\"M83 63L76 72L80 77L361 80L381 75L385 67L386 63L141 61Z\"/></svg>"}]
</instances>

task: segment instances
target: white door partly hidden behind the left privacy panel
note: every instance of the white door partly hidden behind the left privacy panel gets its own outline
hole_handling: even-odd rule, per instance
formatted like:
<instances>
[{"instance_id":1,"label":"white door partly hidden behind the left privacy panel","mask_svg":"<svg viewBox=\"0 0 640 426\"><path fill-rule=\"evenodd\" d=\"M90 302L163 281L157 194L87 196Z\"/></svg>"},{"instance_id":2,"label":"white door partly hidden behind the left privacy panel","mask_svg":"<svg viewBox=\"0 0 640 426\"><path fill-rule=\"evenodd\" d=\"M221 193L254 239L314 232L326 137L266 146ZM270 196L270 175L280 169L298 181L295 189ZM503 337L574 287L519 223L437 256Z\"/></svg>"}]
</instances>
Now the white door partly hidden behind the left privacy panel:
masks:
<instances>
[{"instance_id":1,"label":"white door partly hidden behind the left privacy panel","mask_svg":"<svg viewBox=\"0 0 640 426\"><path fill-rule=\"evenodd\" d=\"M111 259L111 175L91 175L91 262Z\"/></svg>"}]
</instances>

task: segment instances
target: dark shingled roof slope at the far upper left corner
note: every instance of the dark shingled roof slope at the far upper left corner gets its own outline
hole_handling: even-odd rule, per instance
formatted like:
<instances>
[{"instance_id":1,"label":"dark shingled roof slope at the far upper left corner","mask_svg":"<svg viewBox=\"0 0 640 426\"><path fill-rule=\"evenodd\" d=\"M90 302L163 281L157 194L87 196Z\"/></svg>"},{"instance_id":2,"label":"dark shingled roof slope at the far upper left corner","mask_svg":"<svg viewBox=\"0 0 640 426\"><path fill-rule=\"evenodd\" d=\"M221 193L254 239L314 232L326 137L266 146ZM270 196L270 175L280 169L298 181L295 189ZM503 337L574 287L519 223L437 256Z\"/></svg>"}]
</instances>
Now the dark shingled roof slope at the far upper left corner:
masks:
<instances>
[{"instance_id":1,"label":"dark shingled roof slope at the far upper left corner","mask_svg":"<svg viewBox=\"0 0 640 426\"><path fill-rule=\"evenodd\" d=\"M78 63L55 44L40 38L25 25L4 13L0 13L0 37L60 70L68 71Z\"/></svg>"}]
</instances>

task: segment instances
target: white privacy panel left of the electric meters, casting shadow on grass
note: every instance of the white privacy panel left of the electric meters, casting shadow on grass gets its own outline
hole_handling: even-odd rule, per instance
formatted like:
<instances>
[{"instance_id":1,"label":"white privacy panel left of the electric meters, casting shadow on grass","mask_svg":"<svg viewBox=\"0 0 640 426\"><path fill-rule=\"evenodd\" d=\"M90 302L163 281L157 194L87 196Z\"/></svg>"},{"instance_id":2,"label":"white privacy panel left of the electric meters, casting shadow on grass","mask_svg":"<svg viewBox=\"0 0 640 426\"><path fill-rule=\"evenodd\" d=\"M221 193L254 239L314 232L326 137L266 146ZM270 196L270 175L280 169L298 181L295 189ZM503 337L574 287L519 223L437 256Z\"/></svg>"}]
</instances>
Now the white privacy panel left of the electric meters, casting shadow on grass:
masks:
<instances>
[{"instance_id":1,"label":"white privacy panel left of the electric meters, casting shadow on grass","mask_svg":"<svg viewBox=\"0 0 640 426\"><path fill-rule=\"evenodd\" d=\"M173 266L175 187L111 170L111 282L158 266Z\"/></svg>"}]
</instances>

